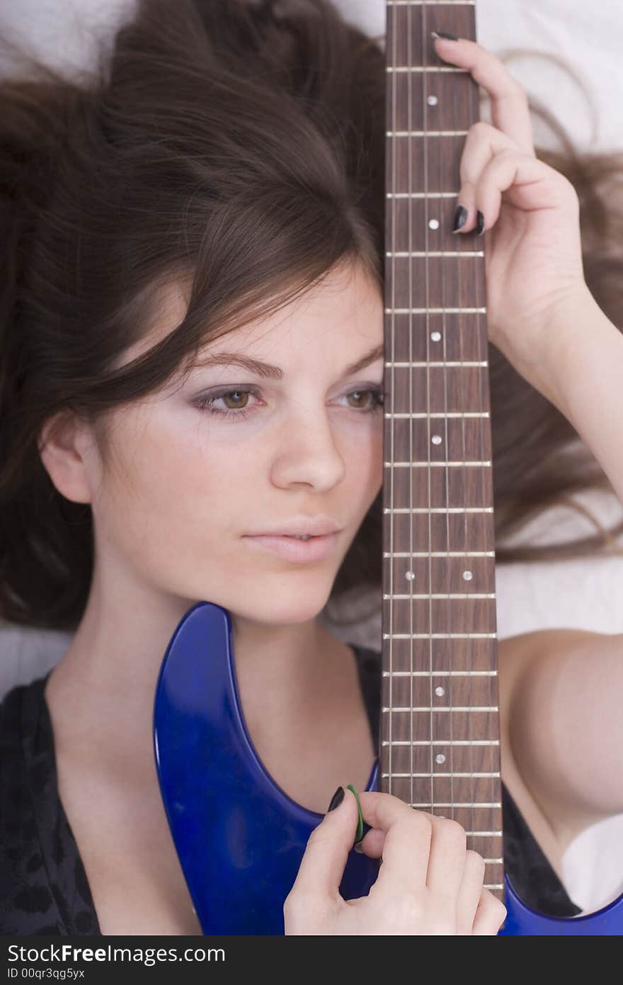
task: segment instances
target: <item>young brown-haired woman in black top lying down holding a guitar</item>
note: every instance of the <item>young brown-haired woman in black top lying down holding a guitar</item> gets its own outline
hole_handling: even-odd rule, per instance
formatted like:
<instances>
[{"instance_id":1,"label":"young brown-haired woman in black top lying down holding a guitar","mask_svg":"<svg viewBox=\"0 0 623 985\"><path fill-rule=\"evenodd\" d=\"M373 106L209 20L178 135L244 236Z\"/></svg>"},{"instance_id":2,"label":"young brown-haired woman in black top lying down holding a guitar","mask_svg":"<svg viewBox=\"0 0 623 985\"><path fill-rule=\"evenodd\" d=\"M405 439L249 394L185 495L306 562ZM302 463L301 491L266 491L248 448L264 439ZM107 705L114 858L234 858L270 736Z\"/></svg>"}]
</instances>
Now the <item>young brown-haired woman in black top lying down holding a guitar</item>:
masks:
<instances>
[{"instance_id":1,"label":"young brown-haired woman in black top lying down holding a guitar","mask_svg":"<svg viewBox=\"0 0 623 985\"><path fill-rule=\"evenodd\" d=\"M576 429L623 494L623 341L584 276L574 185L535 157L524 92L478 44L435 46L492 99L493 125L467 136L458 234L480 214L506 367L494 445L519 428L496 480L522 475L523 505L500 499L511 529L547 478L519 469L535 417L545 447ZM500 927L460 825L389 794L361 794L377 882L358 900L338 890L356 826L340 788L363 789L375 755L378 654L318 617L379 580L384 87L382 52L328 0L143 0L93 79L3 86L0 611L74 631L2 704L3 933L201 933L151 729L163 653L203 599L231 615L270 773L318 812L339 788L286 934ZM511 394L527 413L509 425ZM549 493L571 485L556 481ZM335 534L313 562L253 540L306 531ZM550 912L578 912L558 878L574 831L623 810L619 644L500 645L505 861L529 889L538 873Z\"/></svg>"}]
</instances>

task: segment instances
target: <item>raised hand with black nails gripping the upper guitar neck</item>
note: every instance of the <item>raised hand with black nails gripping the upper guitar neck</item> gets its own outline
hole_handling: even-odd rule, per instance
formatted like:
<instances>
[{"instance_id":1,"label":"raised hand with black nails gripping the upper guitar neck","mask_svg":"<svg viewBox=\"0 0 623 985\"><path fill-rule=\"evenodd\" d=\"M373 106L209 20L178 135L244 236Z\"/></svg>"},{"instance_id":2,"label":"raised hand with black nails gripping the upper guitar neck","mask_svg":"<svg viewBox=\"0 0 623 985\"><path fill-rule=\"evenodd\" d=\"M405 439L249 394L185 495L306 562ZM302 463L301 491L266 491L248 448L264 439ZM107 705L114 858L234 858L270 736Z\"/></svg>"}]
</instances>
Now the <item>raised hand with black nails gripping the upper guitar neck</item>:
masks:
<instances>
[{"instance_id":1,"label":"raised hand with black nails gripping the upper guitar neck","mask_svg":"<svg viewBox=\"0 0 623 985\"><path fill-rule=\"evenodd\" d=\"M494 126L480 121L467 132L457 199L467 219L457 234L472 232L476 211L482 213L489 339L545 391L543 372L545 365L551 371L556 346L552 326L564 324L567 312L573 317L580 302L594 303L582 265L578 195L535 157L526 91L502 62L467 38L434 44L491 99Z\"/></svg>"}]
</instances>

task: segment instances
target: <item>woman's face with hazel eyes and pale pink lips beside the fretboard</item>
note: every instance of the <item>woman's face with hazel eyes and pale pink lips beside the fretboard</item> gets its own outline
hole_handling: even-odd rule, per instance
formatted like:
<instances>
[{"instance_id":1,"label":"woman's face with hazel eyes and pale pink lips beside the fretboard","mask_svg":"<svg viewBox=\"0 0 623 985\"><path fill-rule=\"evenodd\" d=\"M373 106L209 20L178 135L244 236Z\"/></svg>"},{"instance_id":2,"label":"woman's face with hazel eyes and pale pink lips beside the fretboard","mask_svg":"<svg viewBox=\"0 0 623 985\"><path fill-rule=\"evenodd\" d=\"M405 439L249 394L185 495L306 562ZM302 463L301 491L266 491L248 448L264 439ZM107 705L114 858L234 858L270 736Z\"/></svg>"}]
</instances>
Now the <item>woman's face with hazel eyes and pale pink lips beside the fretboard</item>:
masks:
<instances>
[{"instance_id":1,"label":"woman's face with hazel eyes and pale pink lips beside the fretboard","mask_svg":"<svg viewBox=\"0 0 623 985\"><path fill-rule=\"evenodd\" d=\"M156 332L123 363L184 312L169 289ZM114 467L93 452L88 461L96 565L108 581L116 572L117 584L141 585L156 603L177 597L182 613L201 600L265 624L313 619L381 488L382 346L382 296L360 268L342 269L209 343L201 360L220 361L193 368L183 386L177 378L114 412ZM346 372L375 349L364 368ZM276 369L260 375L224 353ZM249 539L319 517L341 528L324 558L281 558Z\"/></svg>"}]
</instances>

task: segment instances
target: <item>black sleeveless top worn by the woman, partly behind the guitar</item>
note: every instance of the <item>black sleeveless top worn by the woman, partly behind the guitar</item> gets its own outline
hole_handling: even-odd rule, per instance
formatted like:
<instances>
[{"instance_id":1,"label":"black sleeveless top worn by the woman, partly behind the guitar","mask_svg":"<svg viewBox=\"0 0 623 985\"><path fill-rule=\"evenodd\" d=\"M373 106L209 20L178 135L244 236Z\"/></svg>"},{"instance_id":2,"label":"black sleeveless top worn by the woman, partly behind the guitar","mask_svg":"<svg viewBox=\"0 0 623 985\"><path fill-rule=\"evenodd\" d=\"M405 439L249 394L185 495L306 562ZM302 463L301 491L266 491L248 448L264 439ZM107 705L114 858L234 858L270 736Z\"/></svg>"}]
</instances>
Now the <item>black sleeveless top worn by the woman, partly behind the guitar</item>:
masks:
<instances>
[{"instance_id":1,"label":"black sleeveless top worn by the woman, partly behind the guitar","mask_svg":"<svg viewBox=\"0 0 623 985\"><path fill-rule=\"evenodd\" d=\"M350 644L374 748L379 739L380 653ZM54 734L43 689L51 671L0 704L0 934L98 935L91 888L58 796ZM581 912L502 788L505 871L533 909Z\"/></svg>"}]
</instances>

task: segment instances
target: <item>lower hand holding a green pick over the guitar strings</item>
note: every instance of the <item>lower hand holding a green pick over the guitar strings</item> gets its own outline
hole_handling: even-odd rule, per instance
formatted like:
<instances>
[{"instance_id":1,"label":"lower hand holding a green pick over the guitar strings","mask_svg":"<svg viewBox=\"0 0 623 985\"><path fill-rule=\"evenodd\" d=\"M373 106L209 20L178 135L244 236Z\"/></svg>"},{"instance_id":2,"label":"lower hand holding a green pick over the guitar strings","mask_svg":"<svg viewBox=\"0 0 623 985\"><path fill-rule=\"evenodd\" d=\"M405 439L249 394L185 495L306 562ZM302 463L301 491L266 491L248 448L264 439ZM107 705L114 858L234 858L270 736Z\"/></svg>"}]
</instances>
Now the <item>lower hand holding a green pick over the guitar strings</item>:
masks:
<instances>
[{"instance_id":1,"label":"lower hand holding a green pick over the guitar strings","mask_svg":"<svg viewBox=\"0 0 623 985\"><path fill-rule=\"evenodd\" d=\"M483 888L484 862L468 851L457 821L414 811L392 794L359 794L371 829L361 840L381 858L367 896L343 899L340 884L357 827L354 794L312 831L294 885L283 903L285 934L489 934L506 907Z\"/></svg>"}]
</instances>

